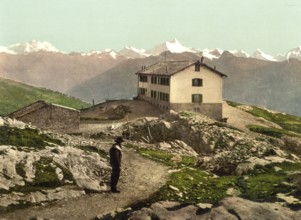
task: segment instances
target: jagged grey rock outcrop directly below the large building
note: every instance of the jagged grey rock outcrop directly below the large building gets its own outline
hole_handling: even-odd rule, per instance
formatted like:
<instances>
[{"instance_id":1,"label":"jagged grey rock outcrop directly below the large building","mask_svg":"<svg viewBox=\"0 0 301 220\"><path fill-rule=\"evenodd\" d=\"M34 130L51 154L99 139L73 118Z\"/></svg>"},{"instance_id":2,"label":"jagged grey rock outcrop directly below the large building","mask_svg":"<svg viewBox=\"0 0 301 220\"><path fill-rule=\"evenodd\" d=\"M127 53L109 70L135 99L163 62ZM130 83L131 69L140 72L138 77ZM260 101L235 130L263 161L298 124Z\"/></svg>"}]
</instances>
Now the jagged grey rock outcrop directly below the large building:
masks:
<instances>
[{"instance_id":1,"label":"jagged grey rock outcrop directly below the large building","mask_svg":"<svg viewBox=\"0 0 301 220\"><path fill-rule=\"evenodd\" d=\"M247 173L257 163L299 160L278 146L281 143L275 145L264 136L255 138L226 123L191 112L172 112L152 120L139 119L120 129L127 130L133 140L167 152L179 153L175 146L184 143L178 144L181 152L193 155L193 150L199 155L199 166L218 175Z\"/></svg>"}]
</instances>

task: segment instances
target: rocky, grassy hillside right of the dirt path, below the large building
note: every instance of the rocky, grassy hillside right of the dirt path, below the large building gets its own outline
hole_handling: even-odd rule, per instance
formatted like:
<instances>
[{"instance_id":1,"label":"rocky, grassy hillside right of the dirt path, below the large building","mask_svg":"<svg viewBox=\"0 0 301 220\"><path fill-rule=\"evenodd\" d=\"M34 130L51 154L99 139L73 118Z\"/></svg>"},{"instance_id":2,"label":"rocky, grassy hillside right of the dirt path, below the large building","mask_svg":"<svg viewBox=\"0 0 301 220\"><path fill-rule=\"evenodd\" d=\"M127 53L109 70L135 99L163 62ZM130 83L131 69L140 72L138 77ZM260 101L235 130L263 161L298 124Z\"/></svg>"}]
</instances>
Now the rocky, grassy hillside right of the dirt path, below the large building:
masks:
<instances>
[{"instance_id":1,"label":"rocky, grassy hillside right of the dirt path, below the large building","mask_svg":"<svg viewBox=\"0 0 301 220\"><path fill-rule=\"evenodd\" d=\"M274 126L274 122L271 124ZM266 128L274 129L273 126ZM134 211L116 211L115 218L301 216L300 211L293 211L301 208L300 133L278 136L259 131L250 135L189 112L139 119L119 129L117 132L130 133L133 142L128 147L169 166L171 176L160 191L144 203L134 205ZM98 219L111 218L112 213L98 216Z\"/></svg>"}]
</instances>

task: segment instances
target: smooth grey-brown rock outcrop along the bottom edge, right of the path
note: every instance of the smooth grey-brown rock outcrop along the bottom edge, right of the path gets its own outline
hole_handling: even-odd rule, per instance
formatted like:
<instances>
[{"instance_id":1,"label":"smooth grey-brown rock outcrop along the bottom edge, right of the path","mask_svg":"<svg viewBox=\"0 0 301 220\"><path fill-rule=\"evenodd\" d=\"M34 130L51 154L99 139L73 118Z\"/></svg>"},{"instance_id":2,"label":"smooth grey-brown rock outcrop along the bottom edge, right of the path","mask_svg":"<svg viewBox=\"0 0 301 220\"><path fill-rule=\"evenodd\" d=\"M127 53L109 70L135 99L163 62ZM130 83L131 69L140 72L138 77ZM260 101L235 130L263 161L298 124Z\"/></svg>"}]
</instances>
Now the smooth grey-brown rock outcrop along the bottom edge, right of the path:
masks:
<instances>
[{"instance_id":1,"label":"smooth grey-brown rock outcrop along the bottom edge, right of the path","mask_svg":"<svg viewBox=\"0 0 301 220\"><path fill-rule=\"evenodd\" d=\"M301 211L292 211L275 203L257 203L239 197L228 197L213 208L188 205L177 207L175 202L157 202L149 208L133 212L129 219L194 219L194 220L291 220L300 219Z\"/></svg>"}]
</instances>

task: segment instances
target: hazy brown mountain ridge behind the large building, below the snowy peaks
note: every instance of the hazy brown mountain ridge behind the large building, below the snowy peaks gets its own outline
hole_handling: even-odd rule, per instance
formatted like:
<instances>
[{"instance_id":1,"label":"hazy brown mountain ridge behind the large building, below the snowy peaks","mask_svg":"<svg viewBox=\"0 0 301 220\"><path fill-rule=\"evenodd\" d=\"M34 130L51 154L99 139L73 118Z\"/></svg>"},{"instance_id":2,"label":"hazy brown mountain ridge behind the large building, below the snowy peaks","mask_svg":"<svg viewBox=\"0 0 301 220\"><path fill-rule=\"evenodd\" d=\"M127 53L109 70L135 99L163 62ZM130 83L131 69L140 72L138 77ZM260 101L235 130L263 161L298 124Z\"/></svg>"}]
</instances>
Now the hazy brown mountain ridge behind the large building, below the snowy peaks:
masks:
<instances>
[{"instance_id":1,"label":"hazy brown mountain ridge behind the large building, below the snowy peaks","mask_svg":"<svg viewBox=\"0 0 301 220\"><path fill-rule=\"evenodd\" d=\"M299 49L295 48L292 54L297 56ZM139 51L144 52L143 49ZM200 60L203 56L206 64L216 66L217 70L228 75L224 81L224 99L301 115L298 101L301 97L298 85L301 81L301 61L296 58L272 62L255 59L242 50L222 49L196 53L166 51L159 56L138 58L113 57L112 54L117 52L109 49L86 56L52 52L0 53L0 77L60 91L90 103L94 99L99 103L107 99L131 99L136 96L135 73L141 66L162 60Z\"/></svg>"}]
</instances>

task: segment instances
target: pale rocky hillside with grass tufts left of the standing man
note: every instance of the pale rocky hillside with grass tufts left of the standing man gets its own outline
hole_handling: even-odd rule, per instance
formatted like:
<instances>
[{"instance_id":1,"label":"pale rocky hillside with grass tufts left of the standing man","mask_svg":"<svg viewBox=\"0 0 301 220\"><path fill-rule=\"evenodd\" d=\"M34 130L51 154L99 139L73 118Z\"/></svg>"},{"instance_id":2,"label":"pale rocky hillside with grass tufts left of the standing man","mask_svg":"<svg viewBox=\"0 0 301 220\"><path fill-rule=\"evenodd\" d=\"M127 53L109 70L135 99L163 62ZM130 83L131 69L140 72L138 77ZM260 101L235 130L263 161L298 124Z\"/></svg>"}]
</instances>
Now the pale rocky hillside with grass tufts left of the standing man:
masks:
<instances>
[{"instance_id":1,"label":"pale rocky hillside with grass tufts left of the standing man","mask_svg":"<svg viewBox=\"0 0 301 220\"><path fill-rule=\"evenodd\" d=\"M107 189L107 153L93 140L0 118L0 210Z\"/></svg>"}]
</instances>

